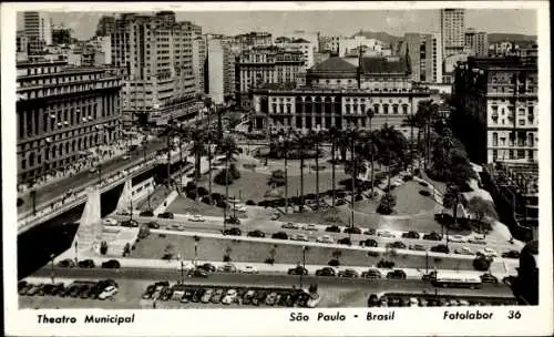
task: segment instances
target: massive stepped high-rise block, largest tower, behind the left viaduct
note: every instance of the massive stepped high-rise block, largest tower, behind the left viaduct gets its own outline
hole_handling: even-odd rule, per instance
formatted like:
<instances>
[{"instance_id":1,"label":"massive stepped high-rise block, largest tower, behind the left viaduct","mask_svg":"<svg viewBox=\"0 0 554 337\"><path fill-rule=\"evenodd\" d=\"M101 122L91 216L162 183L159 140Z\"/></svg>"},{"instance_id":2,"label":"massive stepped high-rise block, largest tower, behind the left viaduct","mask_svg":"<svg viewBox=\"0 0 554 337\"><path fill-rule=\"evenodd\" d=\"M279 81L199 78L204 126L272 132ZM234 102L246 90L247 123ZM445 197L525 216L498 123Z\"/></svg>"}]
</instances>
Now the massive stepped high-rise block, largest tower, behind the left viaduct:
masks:
<instances>
[{"instance_id":1,"label":"massive stepped high-rise block, largest tower, behind the left viaduct","mask_svg":"<svg viewBox=\"0 0 554 337\"><path fill-rule=\"evenodd\" d=\"M112 64L126 70L123 88L125 124L138 115L156 124L197 112L191 22L173 12L124 13L111 34Z\"/></svg>"}]
</instances>

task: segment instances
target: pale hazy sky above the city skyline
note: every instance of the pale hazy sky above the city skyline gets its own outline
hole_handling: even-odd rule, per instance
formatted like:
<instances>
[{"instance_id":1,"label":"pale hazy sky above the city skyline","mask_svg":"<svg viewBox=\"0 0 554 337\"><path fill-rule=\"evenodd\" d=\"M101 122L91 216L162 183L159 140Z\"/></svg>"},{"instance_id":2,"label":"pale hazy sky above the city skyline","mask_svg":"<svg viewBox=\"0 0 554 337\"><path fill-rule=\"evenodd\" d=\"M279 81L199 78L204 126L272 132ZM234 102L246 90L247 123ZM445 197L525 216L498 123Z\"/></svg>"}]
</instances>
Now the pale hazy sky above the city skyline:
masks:
<instances>
[{"instance_id":1,"label":"pale hazy sky above the city skyline","mask_svg":"<svg viewBox=\"0 0 554 337\"><path fill-rule=\"evenodd\" d=\"M94 34L103 14L112 13L52 12L51 18L54 24L63 22L72 28L75 38L86 40ZM228 35L267 31L277 37L295 30L351 35L362 29L401 37L404 32L440 31L439 10L176 12L176 17L179 21L201 25L204 33ZM489 33L537 34L536 11L531 9L466 9L465 25ZM22 18L18 13L18 29L22 27Z\"/></svg>"}]
</instances>

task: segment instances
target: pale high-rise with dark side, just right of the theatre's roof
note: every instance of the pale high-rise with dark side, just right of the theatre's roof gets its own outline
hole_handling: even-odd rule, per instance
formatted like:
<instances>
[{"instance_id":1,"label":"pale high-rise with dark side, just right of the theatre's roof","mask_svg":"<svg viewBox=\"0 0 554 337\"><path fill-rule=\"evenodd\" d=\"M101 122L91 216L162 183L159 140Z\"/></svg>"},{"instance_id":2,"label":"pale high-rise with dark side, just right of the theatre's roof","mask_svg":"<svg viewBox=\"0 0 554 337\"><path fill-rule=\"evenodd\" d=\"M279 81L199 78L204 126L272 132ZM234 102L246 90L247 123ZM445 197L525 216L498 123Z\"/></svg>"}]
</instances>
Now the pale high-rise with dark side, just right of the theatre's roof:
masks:
<instances>
[{"instance_id":1,"label":"pale high-rise with dark side, just right of the theatre's roof","mask_svg":"<svg viewBox=\"0 0 554 337\"><path fill-rule=\"evenodd\" d=\"M408 53L412 80L442 83L442 48L439 34L406 33L400 54Z\"/></svg>"}]
</instances>

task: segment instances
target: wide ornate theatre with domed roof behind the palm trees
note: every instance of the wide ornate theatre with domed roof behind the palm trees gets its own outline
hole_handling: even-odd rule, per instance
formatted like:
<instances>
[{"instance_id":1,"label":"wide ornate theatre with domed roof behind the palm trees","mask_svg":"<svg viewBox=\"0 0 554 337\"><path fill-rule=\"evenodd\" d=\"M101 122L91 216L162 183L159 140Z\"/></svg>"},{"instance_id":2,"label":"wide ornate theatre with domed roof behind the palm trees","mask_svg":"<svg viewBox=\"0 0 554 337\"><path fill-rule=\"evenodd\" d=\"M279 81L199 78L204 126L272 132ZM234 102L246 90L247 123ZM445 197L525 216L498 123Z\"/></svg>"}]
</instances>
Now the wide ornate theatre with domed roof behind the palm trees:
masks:
<instances>
[{"instance_id":1,"label":"wide ornate theatre with domed roof behind the palm trees","mask_svg":"<svg viewBox=\"0 0 554 337\"><path fill-rule=\"evenodd\" d=\"M418 102L429 99L429 89L412 84L407 58L335 57L310 68L306 85L254 90L253 129L367 129L368 110L375 114L372 127L387 123L400 129Z\"/></svg>"}]
</instances>

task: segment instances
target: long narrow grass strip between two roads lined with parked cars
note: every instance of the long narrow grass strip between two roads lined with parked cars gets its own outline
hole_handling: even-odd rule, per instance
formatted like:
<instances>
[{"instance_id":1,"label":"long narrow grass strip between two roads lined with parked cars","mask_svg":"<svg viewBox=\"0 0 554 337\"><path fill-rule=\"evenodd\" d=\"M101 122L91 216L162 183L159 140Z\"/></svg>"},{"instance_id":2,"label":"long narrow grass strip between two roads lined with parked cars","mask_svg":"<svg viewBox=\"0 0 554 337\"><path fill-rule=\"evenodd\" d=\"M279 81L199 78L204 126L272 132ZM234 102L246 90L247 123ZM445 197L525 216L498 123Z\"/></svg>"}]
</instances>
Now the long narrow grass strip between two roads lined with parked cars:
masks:
<instances>
[{"instance_id":1,"label":"long narrow grass strip between two roads lined with parked cars","mask_svg":"<svg viewBox=\"0 0 554 337\"><path fill-rule=\"evenodd\" d=\"M172 243L174 245L173 253L175 256L181 254L184 259L194 259L194 238L184 235L151 235L148 238L136 244L136 248L132 252L131 257L135 258L162 258L165 247ZM230 257L237 262L263 263L269 257L269 252L274 244L260 242L244 242L238 239L208 238L204 237L198 242L198 259L203 261L219 261L223 262L223 256L227 248L230 248ZM302 259L302 247L300 245L276 245L275 262L285 264L297 264ZM311 247L306 254L306 264L327 265L332 258L336 251L341 252L339 258L341 265L351 266L375 266L382 258L370 257L366 251L353 249L337 249L331 247ZM402 255L389 257L394 261L396 267L412 267L425 268L425 256ZM440 261L429 258L429 267L448 268L448 269L473 269L471 259L459 259L443 257Z\"/></svg>"}]
</instances>

